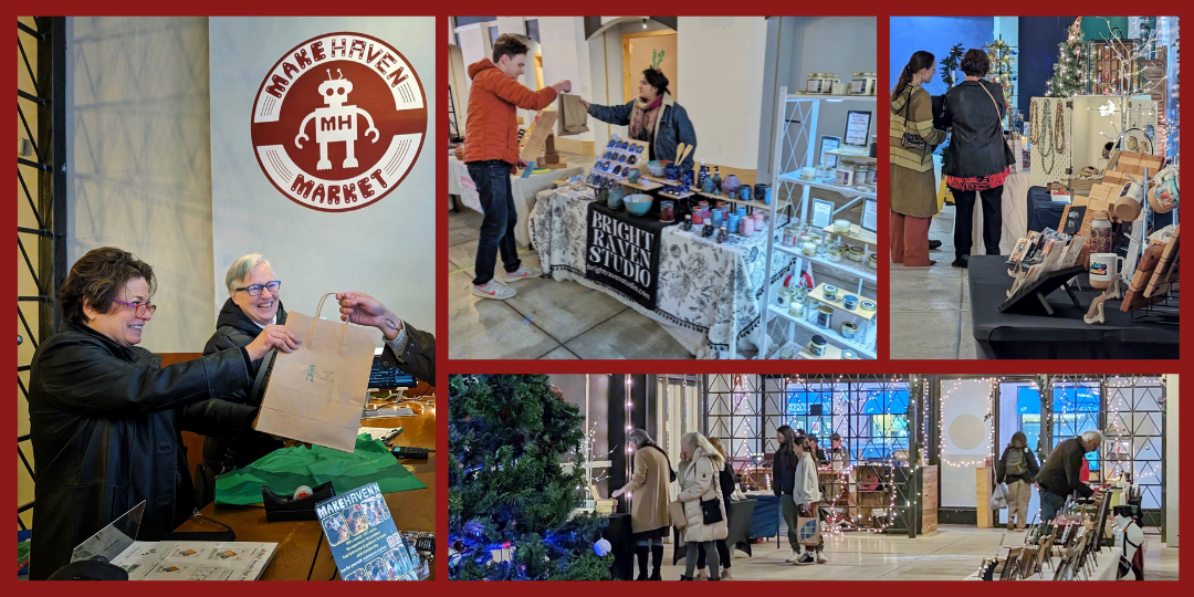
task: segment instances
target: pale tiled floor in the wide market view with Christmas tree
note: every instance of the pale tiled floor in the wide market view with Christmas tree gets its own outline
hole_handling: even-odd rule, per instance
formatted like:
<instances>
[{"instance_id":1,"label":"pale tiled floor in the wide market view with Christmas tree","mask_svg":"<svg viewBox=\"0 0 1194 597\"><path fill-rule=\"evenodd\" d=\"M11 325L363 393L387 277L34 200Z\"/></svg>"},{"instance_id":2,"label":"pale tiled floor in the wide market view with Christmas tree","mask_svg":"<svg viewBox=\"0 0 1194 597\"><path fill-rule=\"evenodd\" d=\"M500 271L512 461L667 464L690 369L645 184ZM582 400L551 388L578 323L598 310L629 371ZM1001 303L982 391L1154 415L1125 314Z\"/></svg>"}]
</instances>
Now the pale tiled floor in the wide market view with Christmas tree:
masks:
<instances>
[{"instance_id":1,"label":"pale tiled floor in the wide market view with Christmas tree","mask_svg":"<svg viewBox=\"0 0 1194 597\"><path fill-rule=\"evenodd\" d=\"M753 556L734 552L732 576L736 580L962 580L978 570L984 558L996 555L1002 546L1023 544L1022 533L973 527L941 527L936 533L907 538L901 535L847 533L825 542L826 564L795 566L787 540L776 548L773 537L752 546ZM1106 550L1103 552L1107 553ZM1159 535L1149 536L1145 550L1145 578L1177 580L1177 549L1161 543ZM663 578L678 579L684 560L671 562L666 546ZM1047 573L1047 571L1046 571Z\"/></svg>"}]
</instances>

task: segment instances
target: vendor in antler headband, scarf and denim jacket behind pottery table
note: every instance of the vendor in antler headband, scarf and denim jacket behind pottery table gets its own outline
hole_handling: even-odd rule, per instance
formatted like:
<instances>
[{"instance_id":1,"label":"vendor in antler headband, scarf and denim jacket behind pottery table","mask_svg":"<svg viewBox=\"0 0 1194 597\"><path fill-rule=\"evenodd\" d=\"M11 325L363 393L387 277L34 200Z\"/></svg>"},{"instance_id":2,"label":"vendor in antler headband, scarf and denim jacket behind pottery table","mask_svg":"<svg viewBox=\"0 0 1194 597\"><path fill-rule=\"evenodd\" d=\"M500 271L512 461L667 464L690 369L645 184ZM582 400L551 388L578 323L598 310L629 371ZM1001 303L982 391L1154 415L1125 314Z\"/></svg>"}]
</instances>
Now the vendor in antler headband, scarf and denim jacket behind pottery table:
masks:
<instances>
[{"instance_id":1,"label":"vendor in antler headband, scarf and denim jacket behind pottery table","mask_svg":"<svg viewBox=\"0 0 1194 597\"><path fill-rule=\"evenodd\" d=\"M688 112L667 93L667 78L654 68L644 70L639 79L639 99L620 106L602 106L583 99L580 103L593 118L629 127L630 139L651 143L652 160L675 161L679 143L696 147L696 131ZM684 168L693 167L694 153L684 159Z\"/></svg>"}]
</instances>

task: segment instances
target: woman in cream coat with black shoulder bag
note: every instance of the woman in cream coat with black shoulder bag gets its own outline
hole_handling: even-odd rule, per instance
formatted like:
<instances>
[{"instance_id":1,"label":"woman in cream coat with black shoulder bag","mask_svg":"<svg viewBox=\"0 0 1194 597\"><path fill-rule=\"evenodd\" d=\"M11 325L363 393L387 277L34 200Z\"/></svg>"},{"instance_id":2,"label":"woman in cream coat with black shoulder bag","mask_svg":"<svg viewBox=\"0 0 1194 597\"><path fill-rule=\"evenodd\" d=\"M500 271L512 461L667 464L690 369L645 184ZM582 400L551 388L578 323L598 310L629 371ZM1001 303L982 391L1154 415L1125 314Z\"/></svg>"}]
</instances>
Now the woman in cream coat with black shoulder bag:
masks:
<instances>
[{"instance_id":1,"label":"woman in cream coat with black shoulder bag","mask_svg":"<svg viewBox=\"0 0 1194 597\"><path fill-rule=\"evenodd\" d=\"M709 580L720 580L721 567L715 541L726 538L726 504L721 500L721 487L718 473L725 466L725 458L701 433L689 432L681 438L679 496L677 501L684 506L684 576L681 580L693 580L696 559L701 548L709 560ZM702 501L716 500L720 516L713 523L704 522Z\"/></svg>"}]
</instances>

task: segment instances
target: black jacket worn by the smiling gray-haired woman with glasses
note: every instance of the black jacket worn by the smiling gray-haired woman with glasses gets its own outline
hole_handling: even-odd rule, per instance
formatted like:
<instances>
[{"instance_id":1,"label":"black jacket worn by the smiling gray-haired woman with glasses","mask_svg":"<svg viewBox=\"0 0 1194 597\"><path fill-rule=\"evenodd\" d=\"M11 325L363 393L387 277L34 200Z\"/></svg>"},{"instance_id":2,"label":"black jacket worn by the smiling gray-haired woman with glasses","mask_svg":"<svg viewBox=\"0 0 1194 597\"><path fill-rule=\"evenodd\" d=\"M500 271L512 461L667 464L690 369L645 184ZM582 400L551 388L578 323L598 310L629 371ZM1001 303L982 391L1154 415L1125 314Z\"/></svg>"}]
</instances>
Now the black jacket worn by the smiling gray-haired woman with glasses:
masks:
<instances>
[{"instance_id":1,"label":"black jacket worn by the smiling gray-haired woman with glasses","mask_svg":"<svg viewBox=\"0 0 1194 597\"><path fill-rule=\"evenodd\" d=\"M277 324L285 325L285 322L287 309L278 301ZM221 350L242 349L248 346L260 333L261 327L248 319L248 315L245 315L245 312L232 298L228 298L216 318L216 333L211 334L207 346L203 347L203 353L213 355ZM250 364L250 378L257 376L260 363L258 361ZM250 400L248 392L250 388L238 389L223 399L259 408L261 396L254 396L253 400ZM283 447L282 442L253 430L246 430L245 435L240 437L207 437L203 439L203 462L219 474L226 466L241 468Z\"/></svg>"}]
</instances>

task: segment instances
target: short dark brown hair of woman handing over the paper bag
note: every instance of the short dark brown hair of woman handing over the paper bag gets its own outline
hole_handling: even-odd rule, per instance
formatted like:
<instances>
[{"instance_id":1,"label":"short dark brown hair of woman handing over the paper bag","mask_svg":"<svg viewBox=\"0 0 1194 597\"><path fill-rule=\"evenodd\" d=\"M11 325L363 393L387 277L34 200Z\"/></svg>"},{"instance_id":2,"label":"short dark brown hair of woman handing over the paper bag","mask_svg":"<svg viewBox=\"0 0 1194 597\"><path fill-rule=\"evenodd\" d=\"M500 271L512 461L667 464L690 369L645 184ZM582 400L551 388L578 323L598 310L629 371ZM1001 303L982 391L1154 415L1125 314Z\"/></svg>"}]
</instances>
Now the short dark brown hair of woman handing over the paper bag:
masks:
<instances>
[{"instance_id":1,"label":"short dark brown hair of woman handing over the paper bag","mask_svg":"<svg viewBox=\"0 0 1194 597\"><path fill-rule=\"evenodd\" d=\"M75 324L87 324L84 304L100 313L112 308L112 298L130 279L144 278L149 295L155 290L153 267L133 253L117 247L88 251L70 266L67 281L59 289L62 318Z\"/></svg>"}]
</instances>

